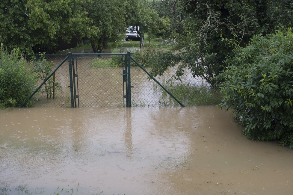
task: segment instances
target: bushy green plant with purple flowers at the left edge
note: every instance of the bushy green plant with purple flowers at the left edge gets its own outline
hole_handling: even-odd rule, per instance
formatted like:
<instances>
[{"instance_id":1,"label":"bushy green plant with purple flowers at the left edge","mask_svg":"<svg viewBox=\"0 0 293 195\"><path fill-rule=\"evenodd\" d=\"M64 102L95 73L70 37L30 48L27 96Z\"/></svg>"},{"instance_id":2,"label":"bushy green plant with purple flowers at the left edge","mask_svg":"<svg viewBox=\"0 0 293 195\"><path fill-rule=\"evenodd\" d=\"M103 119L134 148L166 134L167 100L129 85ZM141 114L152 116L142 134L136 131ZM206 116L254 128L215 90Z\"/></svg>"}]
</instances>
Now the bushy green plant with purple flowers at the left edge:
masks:
<instances>
[{"instance_id":1,"label":"bushy green plant with purple flowers at the left edge","mask_svg":"<svg viewBox=\"0 0 293 195\"><path fill-rule=\"evenodd\" d=\"M36 84L35 72L19 51L11 55L0 46L0 108L20 106ZM29 106L30 103L27 104Z\"/></svg>"}]
</instances>

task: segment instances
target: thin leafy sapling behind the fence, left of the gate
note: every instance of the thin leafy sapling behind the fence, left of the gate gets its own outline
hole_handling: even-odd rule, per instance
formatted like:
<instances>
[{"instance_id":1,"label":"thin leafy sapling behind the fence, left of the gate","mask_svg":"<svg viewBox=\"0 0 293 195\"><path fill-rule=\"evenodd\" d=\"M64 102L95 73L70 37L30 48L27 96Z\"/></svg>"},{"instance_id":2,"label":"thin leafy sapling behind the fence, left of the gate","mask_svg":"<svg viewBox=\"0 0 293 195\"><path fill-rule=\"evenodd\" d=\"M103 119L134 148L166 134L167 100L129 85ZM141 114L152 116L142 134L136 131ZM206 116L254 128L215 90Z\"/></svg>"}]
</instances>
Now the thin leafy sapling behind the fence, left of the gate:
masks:
<instances>
[{"instance_id":1,"label":"thin leafy sapling behind the fence, left of the gate","mask_svg":"<svg viewBox=\"0 0 293 195\"><path fill-rule=\"evenodd\" d=\"M39 53L39 56L33 56L32 62L34 64L34 71L37 73L37 78L42 82L49 77L49 75L53 72L53 68L55 67L54 63L51 61L47 61L45 58L45 53ZM44 89L41 89L41 93L47 94L47 99L51 99L53 90L55 89L55 93L60 91L61 84L54 81L53 76L51 76L45 83Z\"/></svg>"}]
</instances>

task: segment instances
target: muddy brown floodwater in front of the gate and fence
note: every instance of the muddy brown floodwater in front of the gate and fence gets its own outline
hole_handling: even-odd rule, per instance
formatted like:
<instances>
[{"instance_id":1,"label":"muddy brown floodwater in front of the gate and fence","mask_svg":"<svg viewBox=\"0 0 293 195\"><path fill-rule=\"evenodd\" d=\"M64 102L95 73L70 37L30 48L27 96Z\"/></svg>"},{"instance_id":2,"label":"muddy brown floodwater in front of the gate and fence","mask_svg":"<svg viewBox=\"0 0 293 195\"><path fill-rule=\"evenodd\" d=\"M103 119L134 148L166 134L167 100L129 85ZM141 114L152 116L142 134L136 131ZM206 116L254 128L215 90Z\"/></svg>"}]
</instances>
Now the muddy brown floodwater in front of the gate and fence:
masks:
<instances>
[{"instance_id":1,"label":"muddy brown floodwater in front of the gate and fence","mask_svg":"<svg viewBox=\"0 0 293 195\"><path fill-rule=\"evenodd\" d=\"M0 114L1 188L21 185L31 194L293 193L292 149L248 140L215 106Z\"/></svg>"}]
</instances>

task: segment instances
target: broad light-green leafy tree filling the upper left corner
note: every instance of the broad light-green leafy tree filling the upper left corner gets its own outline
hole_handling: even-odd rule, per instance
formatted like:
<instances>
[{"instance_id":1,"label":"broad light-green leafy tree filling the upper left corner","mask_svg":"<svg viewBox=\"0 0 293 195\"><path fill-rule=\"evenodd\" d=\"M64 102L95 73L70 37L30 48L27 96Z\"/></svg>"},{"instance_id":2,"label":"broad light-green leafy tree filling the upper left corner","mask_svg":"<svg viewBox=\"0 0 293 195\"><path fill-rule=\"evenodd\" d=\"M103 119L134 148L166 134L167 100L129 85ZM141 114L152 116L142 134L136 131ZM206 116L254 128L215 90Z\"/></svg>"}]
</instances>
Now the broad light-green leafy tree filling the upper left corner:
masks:
<instances>
[{"instance_id":1,"label":"broad light-green leafy tree filling the upper left corner","mask_svg":"<svg viewBox=\"0 0 293 195\"><path fill-rule=\"evenodd\" d=\"M0 4L0 42L11 51L19 48L33 53L36 45L53 48L61 37L95 34L87 12L81 6L87 0L3 0Z\"/></svg>"}]
</instances>

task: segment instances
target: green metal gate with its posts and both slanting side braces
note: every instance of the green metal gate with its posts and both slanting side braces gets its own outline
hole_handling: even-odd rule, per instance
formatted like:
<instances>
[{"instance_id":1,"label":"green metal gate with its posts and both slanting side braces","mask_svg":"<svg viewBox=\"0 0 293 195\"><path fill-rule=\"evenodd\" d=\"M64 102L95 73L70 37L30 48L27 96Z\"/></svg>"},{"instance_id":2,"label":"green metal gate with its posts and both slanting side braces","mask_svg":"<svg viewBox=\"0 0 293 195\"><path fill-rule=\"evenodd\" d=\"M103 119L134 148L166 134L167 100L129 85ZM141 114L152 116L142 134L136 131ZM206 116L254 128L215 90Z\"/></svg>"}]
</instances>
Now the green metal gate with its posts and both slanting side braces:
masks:
<instances>
[{"instance_id":1,"label":"green metal gate with its posts and both slanting side braces","mask_svg":"<svg viewBox=\"0 0 293 195\"><path fill-rule=\"evenodd\" d=\"M131 61L133 86L131 85ZM54 64L60 62L61 59L56 60ZM66 62L68 62L68 66ZM55 67L56 69L45 81L40 83L40 86L20 107L23 107L29 99L34 106L41 107L161 106L157 99L162 96L162 93L169 94L170 98L184 106L135 61L130 52L122 54L77 54L69 52L67 57ZM146 76L151 78L154 83L145 79ZM143 77L144 79L142 79ZM49 79L53 83L53 91L55 90L54 84L58 86L53 92L53 98L51 96L48 98L42 90L43 85ZM157 85L161 90L151 90L152 87L146 88L141 84ZM131 90L133 90L133 97L131 96ZM159 94L157 95L154 92ZM155 100L157 103L147 103L148 99L140 95L143 93L153 93L149 100ZM165 106L168 105L165 104Z\"/></svg>"}]
</instances>

